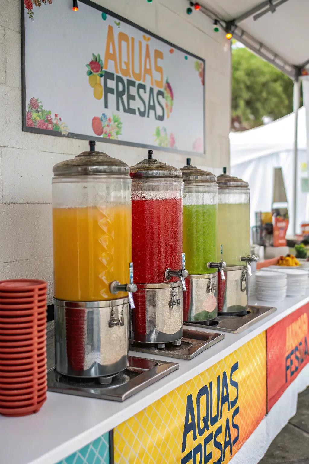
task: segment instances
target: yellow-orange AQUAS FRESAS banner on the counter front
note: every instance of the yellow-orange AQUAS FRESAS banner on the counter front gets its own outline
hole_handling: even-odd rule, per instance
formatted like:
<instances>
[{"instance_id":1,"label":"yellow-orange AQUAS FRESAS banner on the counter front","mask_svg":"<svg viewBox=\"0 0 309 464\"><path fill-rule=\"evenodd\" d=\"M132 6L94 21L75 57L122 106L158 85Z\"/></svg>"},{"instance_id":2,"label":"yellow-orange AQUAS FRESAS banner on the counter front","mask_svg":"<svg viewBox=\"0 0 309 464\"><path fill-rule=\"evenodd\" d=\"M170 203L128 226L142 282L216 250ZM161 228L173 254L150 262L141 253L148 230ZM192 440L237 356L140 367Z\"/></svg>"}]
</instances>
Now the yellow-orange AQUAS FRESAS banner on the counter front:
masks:
<instances>
[{"instance_id":1,"label":"yellow-orange AQUAS FRESAS banner on the counter front","mask_svg":"<svg viewBox=\"0 0 309 464\"><path fill-rule=\"evenodd\" d=\"M226 464L265 413L263 332L116 427L115 464Z\"/></svg>"}]
</instances>

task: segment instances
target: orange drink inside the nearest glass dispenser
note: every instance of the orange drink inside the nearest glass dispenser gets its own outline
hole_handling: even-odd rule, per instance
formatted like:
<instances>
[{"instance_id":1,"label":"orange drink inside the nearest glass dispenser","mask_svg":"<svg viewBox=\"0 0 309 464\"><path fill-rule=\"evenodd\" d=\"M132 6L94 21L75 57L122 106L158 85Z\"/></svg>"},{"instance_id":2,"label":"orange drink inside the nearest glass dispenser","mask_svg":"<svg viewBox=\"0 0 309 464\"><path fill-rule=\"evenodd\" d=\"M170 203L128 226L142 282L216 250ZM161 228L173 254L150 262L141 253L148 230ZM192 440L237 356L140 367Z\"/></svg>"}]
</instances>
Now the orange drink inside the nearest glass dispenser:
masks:
<instances>
[{"instance_id":1,"label":"orange drink inside the nearest glass dispenser","mask_svg":"<svg viewBox=\"0 0 309 464\"><path fill-rule=\"evenodd\" d=\"M131 205L54 207L54 296L66 301L123 298L113 280L130 282Z\"/></svg>"}]
</instances>

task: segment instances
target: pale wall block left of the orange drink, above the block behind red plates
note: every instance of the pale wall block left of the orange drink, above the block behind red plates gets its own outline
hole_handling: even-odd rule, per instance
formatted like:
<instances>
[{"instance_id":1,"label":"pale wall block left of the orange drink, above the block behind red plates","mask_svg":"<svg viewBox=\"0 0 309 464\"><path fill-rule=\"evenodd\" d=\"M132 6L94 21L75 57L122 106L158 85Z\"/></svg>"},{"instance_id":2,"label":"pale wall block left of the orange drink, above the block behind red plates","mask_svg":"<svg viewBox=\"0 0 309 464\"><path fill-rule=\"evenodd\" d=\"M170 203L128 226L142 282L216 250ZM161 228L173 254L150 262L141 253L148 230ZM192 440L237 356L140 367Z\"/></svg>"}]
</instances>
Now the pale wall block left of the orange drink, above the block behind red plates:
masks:
<instances>
[{"instance_id":1,"label":"pale wall block left of the orange drink, above the block behind red plates","mask_svg":"<svg viewBox=\"0 0 309 464\"><path fill-rule=\"evenodd\" d=\"M51 205L0 205L0 237L0 263L51 256Z\"/></svg>"}]
</instances>

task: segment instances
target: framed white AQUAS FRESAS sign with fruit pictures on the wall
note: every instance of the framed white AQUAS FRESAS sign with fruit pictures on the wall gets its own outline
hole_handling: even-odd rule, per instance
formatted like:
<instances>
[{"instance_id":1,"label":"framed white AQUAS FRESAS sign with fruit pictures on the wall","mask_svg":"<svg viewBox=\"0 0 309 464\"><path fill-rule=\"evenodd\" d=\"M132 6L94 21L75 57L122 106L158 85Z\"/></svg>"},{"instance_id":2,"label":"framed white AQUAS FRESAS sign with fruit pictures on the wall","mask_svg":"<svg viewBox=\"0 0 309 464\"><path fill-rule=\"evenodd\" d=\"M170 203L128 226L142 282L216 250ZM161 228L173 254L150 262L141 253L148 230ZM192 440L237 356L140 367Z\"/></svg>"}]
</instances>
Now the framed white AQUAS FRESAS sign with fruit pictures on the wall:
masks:
<instances>
[{"instance_id":1,"label":"framed white AQUAS FRESAS sign with fruit pictures on the wall","mask_svg":"<svg viewBox=\"0 0 309 464\"><path fill-rule=\"evenodd\" d=\"M204 59L91 1L72 6L21 0L23 130L203 154Z\"/></svg>"}]
</instances>

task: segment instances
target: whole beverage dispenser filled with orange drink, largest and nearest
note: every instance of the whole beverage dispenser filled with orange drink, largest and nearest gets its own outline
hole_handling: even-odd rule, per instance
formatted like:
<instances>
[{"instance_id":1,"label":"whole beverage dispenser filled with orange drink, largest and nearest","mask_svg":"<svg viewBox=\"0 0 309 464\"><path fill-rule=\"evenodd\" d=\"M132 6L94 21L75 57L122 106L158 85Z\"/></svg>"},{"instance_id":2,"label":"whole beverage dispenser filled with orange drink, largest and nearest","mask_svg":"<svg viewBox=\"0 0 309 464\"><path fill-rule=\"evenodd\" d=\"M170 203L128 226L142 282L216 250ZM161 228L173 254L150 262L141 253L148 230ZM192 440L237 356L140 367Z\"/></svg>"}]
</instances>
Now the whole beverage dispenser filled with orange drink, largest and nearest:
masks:
<instances>
[{"instance_id":1,"label":"whole beverage dispenser filled with orange drink, largest and nearest","mask_svg":"<svg viewBox=\"0 0 309 464\"><path fill-rule=\"evenodd\" d=\"M113 376L128 366L129 167L91 151L53 168L55 354L58 373Z\"/></svg>"}]
</instances>

